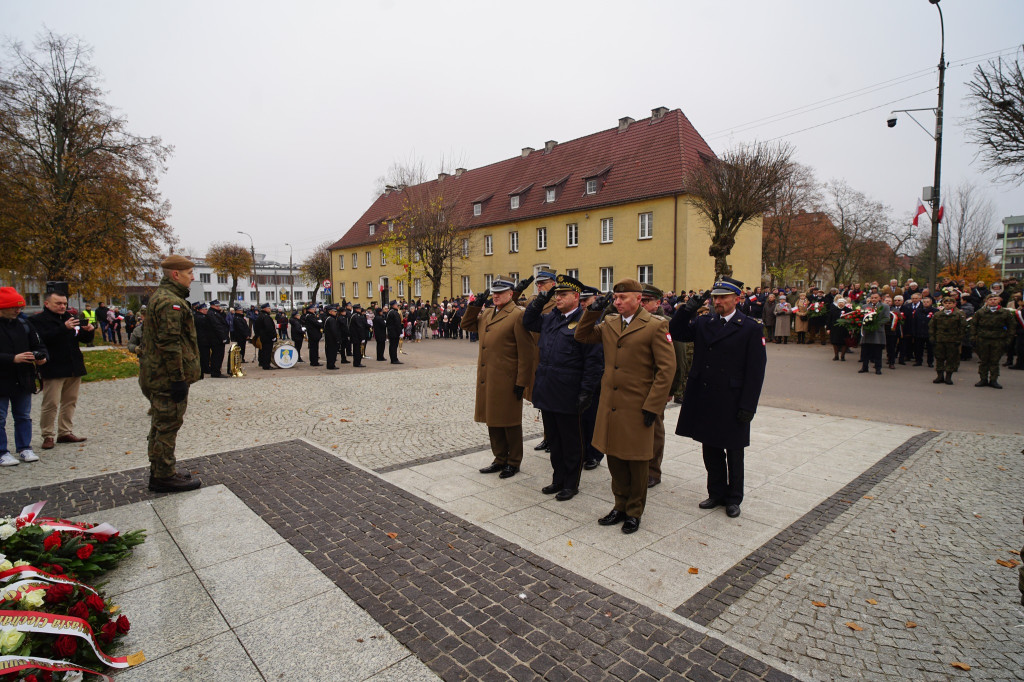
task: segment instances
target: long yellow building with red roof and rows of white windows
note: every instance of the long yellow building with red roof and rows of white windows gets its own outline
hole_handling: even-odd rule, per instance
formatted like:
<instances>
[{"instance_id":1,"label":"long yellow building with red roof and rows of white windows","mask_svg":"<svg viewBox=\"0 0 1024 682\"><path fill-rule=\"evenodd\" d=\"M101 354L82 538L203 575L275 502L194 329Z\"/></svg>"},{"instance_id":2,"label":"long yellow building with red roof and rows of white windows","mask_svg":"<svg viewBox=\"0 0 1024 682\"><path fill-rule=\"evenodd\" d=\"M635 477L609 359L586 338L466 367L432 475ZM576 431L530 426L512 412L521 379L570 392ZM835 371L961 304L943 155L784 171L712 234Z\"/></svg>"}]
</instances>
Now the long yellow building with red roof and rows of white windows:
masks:
<instances>
[{"instance_id":1,"label":"long yellow building with red roof and rows of white windows","mask_svg":"<svg viewBox=\"0 0 1024 682\"><path fill-rule=\"evenodd\" d=\"M623 278L664 291L708 289L707 220L689 201L683 178L714 152L679 110L658 108L641 121L624 118L608 130L414 187L389 188L331 247L335 301L428 299L431 286L417 263L407 275L388 262L382 240L411 197L442 195L462 227L462 253L438 298L482 291L502 274L539 269L574 276L610 291ZM729 257L734 276L760 285L761 222L744 225Z\"/></svg>"}]
</instances>

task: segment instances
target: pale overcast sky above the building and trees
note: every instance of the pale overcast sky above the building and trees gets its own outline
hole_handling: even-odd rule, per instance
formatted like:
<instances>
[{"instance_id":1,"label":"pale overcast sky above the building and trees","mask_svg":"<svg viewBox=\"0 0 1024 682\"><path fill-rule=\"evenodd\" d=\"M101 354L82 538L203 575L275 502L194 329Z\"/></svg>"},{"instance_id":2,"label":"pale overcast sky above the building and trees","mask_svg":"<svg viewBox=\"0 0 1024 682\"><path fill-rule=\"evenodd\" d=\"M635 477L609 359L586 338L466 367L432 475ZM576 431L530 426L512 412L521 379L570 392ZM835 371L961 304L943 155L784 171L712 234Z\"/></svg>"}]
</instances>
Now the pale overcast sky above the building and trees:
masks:
<instances>
[{"instance_id":1,"label":"pale overcast sky above the building and trees","mask_svg":"<svg viewBox=\"0 0 1024 682\"><path fill-rule=\"evenodd\" d=\"M973 181L996 220L1022 214L1024 188L973 162L964 96L982 55L1021 55L1024 2L942 8L943 186ZM655 106L682 109L718 153L785 135L820 179L896 215L932 183L932 139L905 116L885 124L892 109L936 103L928 0L0 0L7 40L46 28L94 48L133 132L174 145L161 187L199 253L248 247L242 229L285 262L290 242L298 262L352 225L394 161L475 168ZM934 126L929 112L919 120Z\"/></svg>"}]
</instances>

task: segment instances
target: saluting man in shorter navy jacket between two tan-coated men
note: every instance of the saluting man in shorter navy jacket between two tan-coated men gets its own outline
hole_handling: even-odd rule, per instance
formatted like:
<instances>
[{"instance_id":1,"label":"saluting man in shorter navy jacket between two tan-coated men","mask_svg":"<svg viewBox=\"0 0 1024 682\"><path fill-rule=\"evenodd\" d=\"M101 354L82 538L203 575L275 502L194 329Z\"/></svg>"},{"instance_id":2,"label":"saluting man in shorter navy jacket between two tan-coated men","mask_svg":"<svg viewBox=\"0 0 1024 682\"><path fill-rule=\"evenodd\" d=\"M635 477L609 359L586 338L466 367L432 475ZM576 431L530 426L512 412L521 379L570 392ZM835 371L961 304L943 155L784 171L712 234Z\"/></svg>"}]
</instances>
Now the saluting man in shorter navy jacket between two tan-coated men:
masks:
<instances>
[{"instance_id":1,"label":"saluting man in shorter navy jacket between two tan-coated men","mask_svg":"<svg viewBox=\"0 0 1024 682\"><path fill-rule=\"evenodd\" d=\"M526 306L522 325L540 334L534 407L541 411L544 432L551 445L551 484L541 489L559 502L571 500L580 489L586 443L583 415L594 400L604 371L601 347L575 340L583 315L580 281L559 274L553 287ZM544 312L554 302L551 312Z\"/></svg>"}]
</instances>

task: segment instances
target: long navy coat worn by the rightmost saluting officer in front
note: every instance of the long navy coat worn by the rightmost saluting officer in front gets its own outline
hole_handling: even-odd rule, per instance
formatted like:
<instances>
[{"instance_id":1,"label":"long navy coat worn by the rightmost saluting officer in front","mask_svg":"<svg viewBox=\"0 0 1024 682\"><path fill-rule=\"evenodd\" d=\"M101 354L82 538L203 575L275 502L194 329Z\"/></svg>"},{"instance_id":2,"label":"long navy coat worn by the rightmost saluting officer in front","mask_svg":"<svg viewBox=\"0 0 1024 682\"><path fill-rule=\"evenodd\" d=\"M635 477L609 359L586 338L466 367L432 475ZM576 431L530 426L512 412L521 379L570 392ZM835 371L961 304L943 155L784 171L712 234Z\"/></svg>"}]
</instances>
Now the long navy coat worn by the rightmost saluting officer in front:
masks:
<instances>
[{"instance_id":1,"label":"long navy coat worn by the rightmost saluting officer in front","mask_svg":"<svg viewBox=\"0 0 1024 682\"><path fill-rule=\"evenodd\" d=\"M715 447L745 447L751 425L736 419L736 413L757 412L768 361L764 334L757 321L739 310L724 327L720 321L713 314L694 319L679 308L669 325L674 341L693 342L676 433Z\"/></svg>"}]
</instances>

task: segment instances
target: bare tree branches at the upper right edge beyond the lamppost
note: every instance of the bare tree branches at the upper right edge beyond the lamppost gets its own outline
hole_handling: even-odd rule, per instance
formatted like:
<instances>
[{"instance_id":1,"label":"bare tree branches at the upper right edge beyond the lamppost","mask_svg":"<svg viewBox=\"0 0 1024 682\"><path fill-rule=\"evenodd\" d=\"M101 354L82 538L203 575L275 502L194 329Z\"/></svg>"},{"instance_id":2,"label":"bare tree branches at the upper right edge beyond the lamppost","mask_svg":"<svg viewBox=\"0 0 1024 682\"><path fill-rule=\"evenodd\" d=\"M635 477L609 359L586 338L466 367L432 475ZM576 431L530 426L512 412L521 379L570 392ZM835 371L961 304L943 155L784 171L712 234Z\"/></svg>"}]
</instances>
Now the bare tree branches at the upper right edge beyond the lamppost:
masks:
<instances>
[{"instance_id":1,"label":"bare tree branches at the upper right edge beyond the lamppost","mask_svg":"<svg viewBox=\"0 0 1024 682\"><path fill-rule=\"evenodd\" d=\"M968 84L973 108L968 136L982 164L999 180L1024 183L1024 73L1021 62L989 61Z\"/></svg>"}]
</instances>

